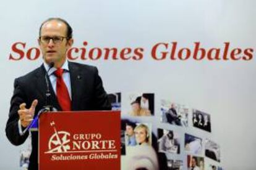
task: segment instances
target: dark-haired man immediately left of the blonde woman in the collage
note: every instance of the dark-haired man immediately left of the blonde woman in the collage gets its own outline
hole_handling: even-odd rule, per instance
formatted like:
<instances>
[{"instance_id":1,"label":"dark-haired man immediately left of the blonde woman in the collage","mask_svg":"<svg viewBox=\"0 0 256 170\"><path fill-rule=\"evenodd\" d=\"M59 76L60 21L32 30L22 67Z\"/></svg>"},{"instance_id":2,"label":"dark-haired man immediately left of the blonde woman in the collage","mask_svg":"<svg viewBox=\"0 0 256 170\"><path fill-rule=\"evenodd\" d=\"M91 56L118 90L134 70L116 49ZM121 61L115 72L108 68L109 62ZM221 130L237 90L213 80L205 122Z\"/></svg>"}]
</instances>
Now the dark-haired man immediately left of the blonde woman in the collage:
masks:
<instances>
[{"instance_id":1,"label":"dark-haired man immediately left of the blonde woman in the collage","mask_svg":"<svg viewBox=\"0 0 256 170\"><path fill-rule=\"evenodd\" d=\"M135 146L137 145L136 139L135 139L135 132L134 128L136 127L135 123L127 122L126 123L126 146Z\"/></svg>"}]
</instances>

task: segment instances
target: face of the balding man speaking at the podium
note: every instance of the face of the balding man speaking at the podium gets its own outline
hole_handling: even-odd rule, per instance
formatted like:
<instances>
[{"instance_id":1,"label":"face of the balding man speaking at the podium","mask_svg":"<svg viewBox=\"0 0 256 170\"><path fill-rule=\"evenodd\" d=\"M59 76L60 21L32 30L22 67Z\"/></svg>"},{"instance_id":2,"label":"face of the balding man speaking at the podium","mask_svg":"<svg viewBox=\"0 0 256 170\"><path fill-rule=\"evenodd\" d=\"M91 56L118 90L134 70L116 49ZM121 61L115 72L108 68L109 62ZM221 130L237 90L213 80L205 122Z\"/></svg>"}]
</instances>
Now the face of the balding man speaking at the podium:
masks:
<instances>
[{"instance_id":1,"label":"face of the balding man speaking at the podium","mask_svg":"<svg viewBox=\"0 0 256 170\"><path fill-rule=\"evenodd\" d=\"M43 43L38 39L43 59L46 63L54 62L55 67L61 67L66 60L66 52L72 46L73 39L66 39L67 26L65 23L58 20L51 20L46 22L41 28L41 37L65 37L62 42L54 43L50 39L49 43Z\"/></svg>"}]
</instances>

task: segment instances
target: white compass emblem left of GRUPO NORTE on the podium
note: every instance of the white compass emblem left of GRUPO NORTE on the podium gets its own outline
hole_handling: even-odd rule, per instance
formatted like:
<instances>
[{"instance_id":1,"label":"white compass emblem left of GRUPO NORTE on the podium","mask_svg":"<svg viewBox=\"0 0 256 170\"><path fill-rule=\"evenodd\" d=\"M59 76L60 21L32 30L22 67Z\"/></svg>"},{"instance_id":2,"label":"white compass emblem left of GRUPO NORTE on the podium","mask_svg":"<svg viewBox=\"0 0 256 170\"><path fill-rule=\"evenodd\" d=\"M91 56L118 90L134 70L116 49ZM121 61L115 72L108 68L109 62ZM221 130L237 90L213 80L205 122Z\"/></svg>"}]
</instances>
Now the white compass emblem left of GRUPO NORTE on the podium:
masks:
<instances>
[{"instance_id":1,"label":"white compass emblem left of GRUPO NORTE on the podium","mask_svg":"<svg viewBox=\"0 0 256 170\"><path fill-rule=\"evenodd\" d=\"M51 123L53 126L54 134L50 137L48 143L48 152L45 153L64 153L70 150L70 133L66 131L56 131L54 121Z\"/></svg>"}]
</instances>

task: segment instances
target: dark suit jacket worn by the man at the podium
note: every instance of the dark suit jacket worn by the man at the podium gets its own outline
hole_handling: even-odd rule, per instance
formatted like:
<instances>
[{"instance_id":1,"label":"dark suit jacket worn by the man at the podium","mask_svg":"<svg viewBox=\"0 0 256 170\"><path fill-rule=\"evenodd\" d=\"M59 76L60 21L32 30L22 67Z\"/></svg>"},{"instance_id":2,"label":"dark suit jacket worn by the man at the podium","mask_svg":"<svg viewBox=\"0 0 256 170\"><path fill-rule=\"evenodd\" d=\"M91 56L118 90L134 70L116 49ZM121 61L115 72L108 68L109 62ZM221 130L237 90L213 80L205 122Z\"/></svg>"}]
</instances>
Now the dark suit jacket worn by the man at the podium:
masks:
<instances>
[{"instance_id":1,"label":"dark suit jacket worn by the man at the podium","mask_svg":"<svg viewBox=\"0 0 256 170\"><path fill-rule=\"evenodd\" d=\"M111 110L111 105L96 67L69 62L69 71L72 110ZM25 102L27 108L29 108L32 101L38 99L35 116L45 105L45 73L45 67L41 65L36 70L14 81L14 94L12 95L9 119L6 124L6 136L14 145L23 144L28 137L28 132L23 136L19 134L19 115L17 113L19 105ZM52 86L50 86L50 92L49 101L54 108L61 111ZM32 132L32 154L30 155L29 169L38 169L38 132Z\"/></svg>"}]
</instances>

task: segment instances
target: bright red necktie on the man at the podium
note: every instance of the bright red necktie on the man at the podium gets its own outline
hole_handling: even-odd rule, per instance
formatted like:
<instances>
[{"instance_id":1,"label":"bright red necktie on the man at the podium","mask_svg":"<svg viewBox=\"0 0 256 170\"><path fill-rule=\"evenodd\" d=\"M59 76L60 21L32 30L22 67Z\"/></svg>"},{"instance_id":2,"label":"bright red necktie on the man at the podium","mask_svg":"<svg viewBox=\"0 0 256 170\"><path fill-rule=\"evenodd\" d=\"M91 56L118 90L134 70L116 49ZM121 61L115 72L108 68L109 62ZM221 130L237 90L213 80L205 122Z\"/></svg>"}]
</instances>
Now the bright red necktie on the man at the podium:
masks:
<instances>
[{"instance_id":1,"label":"bright red necktie on the man at the podium","mask_svg":"<svg viewBox=\"0 0 256 170\"><path fill-rule=\"evenodd\" d=\"M69 91L67 90L67 86L62 79L63 69L58 68L54 74L57 77L57 86L56 86L56 94L59 105L63 111L70 111L71 110L71 100L69 97Z\"/></svg>"}]
</instances>

